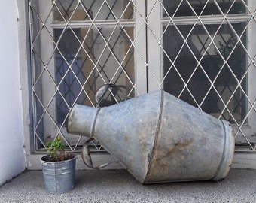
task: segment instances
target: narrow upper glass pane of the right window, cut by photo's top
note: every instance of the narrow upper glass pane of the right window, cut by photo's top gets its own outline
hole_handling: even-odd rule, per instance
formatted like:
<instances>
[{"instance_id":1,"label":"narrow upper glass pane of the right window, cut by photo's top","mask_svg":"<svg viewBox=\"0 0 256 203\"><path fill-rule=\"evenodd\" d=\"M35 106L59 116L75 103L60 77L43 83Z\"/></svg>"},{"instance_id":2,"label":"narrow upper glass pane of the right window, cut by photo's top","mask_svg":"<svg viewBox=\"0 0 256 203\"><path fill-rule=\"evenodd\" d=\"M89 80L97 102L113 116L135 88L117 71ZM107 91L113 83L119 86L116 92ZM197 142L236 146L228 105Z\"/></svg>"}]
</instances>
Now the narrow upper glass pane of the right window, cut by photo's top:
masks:
<instances>
[{"instance_id":1,"label":"narrow upper glass pane of the right window, cut by photo's top","mask_svg":"<svg viewBox=\"0 0 256 203\"><path fill-rule=\"evenodd\" d=\"M166 16L195 16L212 14L244 14L246 12L245 0L163 0L163 17Z\"/></svg>"}]
</instances>

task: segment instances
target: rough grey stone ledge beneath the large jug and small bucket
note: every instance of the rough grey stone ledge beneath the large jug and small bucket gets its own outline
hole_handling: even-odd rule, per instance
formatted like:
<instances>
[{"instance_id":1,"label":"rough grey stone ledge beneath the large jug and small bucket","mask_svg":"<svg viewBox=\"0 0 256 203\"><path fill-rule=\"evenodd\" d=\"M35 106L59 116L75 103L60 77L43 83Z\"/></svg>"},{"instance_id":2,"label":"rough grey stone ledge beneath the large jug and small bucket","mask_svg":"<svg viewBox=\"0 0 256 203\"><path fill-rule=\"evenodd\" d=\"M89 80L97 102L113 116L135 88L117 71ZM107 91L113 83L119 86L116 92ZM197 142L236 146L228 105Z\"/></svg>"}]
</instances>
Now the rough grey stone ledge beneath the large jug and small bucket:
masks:
<instances>
[{"instance_id":1,"label":"rough grey stone ledge beneath the large jug and small bucket","mask_svg":"<svg viewBox=\"0 0 256 203\"><path fill-rule=\"evenodd\" d=\"M125 170L76 171L75 189L44 190L42 171L25 171L0 186L0 202L256 202L256 170L231 170L222 182L142 185Z\"/></svg>"}]
</instances>

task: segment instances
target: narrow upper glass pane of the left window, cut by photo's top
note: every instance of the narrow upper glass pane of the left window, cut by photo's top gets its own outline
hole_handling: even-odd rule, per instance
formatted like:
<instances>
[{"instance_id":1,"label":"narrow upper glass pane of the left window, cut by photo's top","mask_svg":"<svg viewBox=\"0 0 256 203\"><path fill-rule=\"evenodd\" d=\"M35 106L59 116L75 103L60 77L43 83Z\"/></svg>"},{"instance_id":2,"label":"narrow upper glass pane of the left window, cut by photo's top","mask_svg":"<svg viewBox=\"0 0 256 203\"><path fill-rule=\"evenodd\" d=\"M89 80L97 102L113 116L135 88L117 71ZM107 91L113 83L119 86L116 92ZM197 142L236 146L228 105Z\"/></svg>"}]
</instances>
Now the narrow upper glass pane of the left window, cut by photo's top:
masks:
<instances>
[{"instance_id":1,"label":"narrow upper glass pane of the left window, cut by photo's top","mask_svg":"<svg viewBox=\"0 0 256 203\"><path fill-rule=\"evenodd\" d=\"M56 0L53 7L53 20L63 21L64 19L133 19L133 5L128 0Z\"/></svg>"}]
</instances>

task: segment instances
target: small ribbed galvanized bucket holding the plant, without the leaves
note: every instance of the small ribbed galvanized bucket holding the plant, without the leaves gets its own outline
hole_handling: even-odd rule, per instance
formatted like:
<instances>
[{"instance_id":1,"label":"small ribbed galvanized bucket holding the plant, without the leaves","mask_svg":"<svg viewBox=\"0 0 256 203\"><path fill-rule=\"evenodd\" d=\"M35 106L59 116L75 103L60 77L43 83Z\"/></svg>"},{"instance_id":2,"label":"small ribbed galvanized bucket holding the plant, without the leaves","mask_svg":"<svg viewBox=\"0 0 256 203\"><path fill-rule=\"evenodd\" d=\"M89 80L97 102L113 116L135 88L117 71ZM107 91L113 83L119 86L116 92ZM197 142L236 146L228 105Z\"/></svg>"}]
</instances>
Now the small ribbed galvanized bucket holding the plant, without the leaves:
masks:
<instances>
[{"instance_id":1,"label":"small ribbed galvanized bucket holding the plant, without the leaves","mask_svg":"<svg viewBox=\"0 0 256 203\"><path fill-rule=\"evenodd\" d=\"M69 192L75 186L75 160L49 162L49 155L41 157L45 190L49 193Z\"/></svg>"}]
</instances>

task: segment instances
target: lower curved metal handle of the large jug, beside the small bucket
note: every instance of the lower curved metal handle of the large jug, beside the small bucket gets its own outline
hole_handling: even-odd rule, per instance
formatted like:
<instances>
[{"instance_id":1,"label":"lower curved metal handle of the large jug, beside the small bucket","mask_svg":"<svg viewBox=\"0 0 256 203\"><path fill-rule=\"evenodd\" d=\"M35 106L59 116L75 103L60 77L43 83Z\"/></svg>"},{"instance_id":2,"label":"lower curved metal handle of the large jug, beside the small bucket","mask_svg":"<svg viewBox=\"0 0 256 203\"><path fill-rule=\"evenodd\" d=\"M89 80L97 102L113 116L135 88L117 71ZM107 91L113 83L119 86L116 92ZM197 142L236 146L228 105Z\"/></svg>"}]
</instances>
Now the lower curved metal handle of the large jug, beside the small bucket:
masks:
<instances>
[{"instance_id":1,"label":"lower curved metal handle of the large jug, beside the small bucket","mask_svg":"<svg viewBox=\"0 0 256 203\"><path fill-rule=\"evenodd\" d=\"M89 149L89 143L91 141L97 141L96 138L89 138L83 145L82 147L82 153L81 153L81 156L82 156L82 159L83 159L83 162L85 165L87 165L89 168L93 168L93 169L99 169L99 168L104 168L106 167L107 165L111 164L111 163L114 163L114 162L107 162L105 164L102 164L102 165L99 165L99 166L96 166L94 167L93 166L93 161L92 161L92 158L90 156L90 149Z\"/></svg>"}]
</instances>

